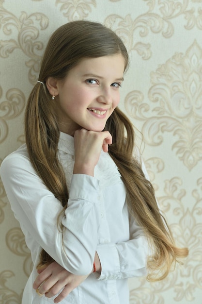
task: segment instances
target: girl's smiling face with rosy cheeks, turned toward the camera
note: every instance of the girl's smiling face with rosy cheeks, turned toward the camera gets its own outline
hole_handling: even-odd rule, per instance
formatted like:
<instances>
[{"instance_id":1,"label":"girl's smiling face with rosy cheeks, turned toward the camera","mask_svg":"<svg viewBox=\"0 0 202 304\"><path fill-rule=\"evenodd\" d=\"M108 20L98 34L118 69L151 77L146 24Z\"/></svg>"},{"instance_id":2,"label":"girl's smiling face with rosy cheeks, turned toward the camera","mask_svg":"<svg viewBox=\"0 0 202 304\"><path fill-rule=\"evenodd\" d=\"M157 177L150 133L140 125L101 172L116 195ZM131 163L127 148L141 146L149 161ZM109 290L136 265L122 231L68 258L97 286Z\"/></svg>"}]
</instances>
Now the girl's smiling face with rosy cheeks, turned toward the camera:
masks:
<instances>
[{"instance_id":1,"label":"girl's smiling face with rosy cheeks, turned toward the camera","mask_svg":"<svg viewBox=\"0 0 202 304\"><path fill-rule=\"evenodd\" d=\"M56 111L60 131L74 135L77 129L102 131L120 101L124 57L121 54L85 58L57 81Z\"/></svg>"}]
</instances>

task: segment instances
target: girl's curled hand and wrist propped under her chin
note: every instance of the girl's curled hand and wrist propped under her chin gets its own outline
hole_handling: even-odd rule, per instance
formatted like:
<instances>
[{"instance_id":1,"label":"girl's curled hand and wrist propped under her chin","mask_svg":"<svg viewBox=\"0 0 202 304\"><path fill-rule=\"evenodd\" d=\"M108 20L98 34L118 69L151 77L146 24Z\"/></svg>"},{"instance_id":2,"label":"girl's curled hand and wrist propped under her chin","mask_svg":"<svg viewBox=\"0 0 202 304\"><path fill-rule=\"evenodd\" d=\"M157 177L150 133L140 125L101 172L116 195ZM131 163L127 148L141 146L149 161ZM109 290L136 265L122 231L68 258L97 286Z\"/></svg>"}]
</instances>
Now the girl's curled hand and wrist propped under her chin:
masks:
<instances>
[{"instance_id":1,"label":"girl's curled hand and wrist propped under her chin","mask_svg":"<svg viewBox=\"0 0 202 304\"><path fill-rule=\"evenodd\" d=\"M85 129L77 130L74 134L75 165L74 174L94 175L100 152L108 152L108 145L112 144L112 136L108 131L95 132Z\"/></svg>"}]
</instances>

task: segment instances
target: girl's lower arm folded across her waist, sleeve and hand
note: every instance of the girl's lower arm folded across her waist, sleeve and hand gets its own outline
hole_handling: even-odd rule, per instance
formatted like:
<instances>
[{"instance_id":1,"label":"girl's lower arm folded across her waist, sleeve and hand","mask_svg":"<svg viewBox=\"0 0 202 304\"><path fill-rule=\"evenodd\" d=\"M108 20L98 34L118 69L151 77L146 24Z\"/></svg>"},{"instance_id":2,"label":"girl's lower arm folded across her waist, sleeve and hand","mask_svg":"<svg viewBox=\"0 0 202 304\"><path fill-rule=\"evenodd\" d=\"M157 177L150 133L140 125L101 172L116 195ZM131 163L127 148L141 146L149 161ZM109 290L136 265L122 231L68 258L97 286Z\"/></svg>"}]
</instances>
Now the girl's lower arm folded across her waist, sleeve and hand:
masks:
<instances>
[{"instance_id":1,"label":"girl's lower arm folded across her waist, sleeve and hand","mask_svg":"<svg viewBox=\"0 0 202 304\"><path fill-rule=\"evenodd\" d=\"M94 274L97 279L123 279L146 274L148 242L140 227L132 219L130 219L130 234L129 241L97 246L94 259L96 268ZM54 299L54 303L59 303L85 278L72 276L58 263L53 262L38 275L33 287L37 289L40 284L45 282L39 292L48 298L55 296L61 290L61 293ZM70 279L73 284L68 285Z\"/></svg>"}]
</instances>

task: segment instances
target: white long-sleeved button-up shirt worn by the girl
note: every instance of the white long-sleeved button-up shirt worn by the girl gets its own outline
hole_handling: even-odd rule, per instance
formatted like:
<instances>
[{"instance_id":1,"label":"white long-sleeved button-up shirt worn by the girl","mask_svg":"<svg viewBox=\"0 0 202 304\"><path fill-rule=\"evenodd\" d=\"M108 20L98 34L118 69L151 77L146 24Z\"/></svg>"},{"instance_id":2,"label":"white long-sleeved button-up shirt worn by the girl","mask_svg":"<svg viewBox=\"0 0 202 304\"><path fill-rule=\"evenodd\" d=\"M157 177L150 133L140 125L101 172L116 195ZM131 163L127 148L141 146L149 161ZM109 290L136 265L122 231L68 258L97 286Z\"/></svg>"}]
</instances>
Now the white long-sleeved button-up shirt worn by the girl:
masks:
<instances>
[{"instance_id":1,"label":"white long-sleeved button-up shirt worn by the girl","mask_svg":"<svg viewBox=\"0 0 202 304\"><path fill-rule=\"evenodd\" d=\"M91 272L95 251L100 258L101 275L89 275L61 304L129 304L127 278L146 274L148 243L128 216L121 175L103 151L94 177L72 174L74 138L64 133L60 135L58 156L69 190L63 232L57 226L62 205L36 174L26 145L8 155L0 168L34 264L22 304L53 303L53 298L39 297L32 288L42 248L74 274Z\"/></svg>"}]
</instances>

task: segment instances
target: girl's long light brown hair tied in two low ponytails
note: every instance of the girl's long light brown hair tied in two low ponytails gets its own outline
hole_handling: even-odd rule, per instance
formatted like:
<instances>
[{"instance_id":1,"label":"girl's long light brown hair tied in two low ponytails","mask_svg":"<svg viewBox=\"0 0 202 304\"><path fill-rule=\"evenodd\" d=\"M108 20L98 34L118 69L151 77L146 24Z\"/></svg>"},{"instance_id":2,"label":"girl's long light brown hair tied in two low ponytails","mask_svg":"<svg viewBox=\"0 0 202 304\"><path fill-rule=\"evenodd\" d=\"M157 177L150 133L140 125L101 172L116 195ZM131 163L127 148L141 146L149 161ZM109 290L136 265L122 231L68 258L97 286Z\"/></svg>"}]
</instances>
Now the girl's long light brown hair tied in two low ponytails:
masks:
<instances>
[{"instance_id":1,"label":"girl's long light brown hair tied in two low ponytails","mask_svg":"<svg viewBox=\"0 0 202 304\"><path fill-rule=\"evenodd\" d=\"M80 20L64 24L48 41L39 80L43 83L48 77L62 80L83 58L119 53L124 57L126 69L128 53L122 40L100 23ZM188 250L174 244L169 227L159 213L153 186L146 180L140 163L132 157L134 129L119 108L108 119L105 130L113 138L109 154L119 168L126 186L129 212L144 229L154 248L153 256L148 258L147 279L163 279L177 259L188 254ZM25 112L26 144L32 166L61 202L64 211L67 208L68 190L57 156L59 133L54 101L51 100L46 85L37 83L31 91ZM51 261L49 254L42 250L39 267Z\"/></svg>"}]
</instances>

